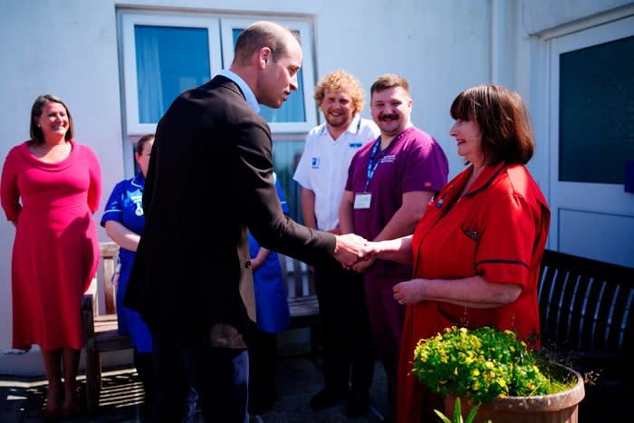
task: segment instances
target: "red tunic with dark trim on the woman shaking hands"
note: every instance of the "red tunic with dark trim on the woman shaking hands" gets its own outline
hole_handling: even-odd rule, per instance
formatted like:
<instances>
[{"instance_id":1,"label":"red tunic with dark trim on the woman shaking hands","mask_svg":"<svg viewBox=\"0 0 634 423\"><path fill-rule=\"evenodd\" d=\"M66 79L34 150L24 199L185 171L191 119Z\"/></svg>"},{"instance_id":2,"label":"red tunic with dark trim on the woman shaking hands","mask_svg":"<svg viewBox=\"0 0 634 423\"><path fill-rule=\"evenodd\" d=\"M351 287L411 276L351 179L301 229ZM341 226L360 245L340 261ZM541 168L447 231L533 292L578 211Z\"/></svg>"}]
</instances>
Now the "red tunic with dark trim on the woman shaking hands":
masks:
<instances>
[{"instance_id":1,"label":"red tunic with dark trim on the woman shaking hands","mask_svg":"<svg viewBox=\"0 0 634 423\"><path fill-rule=\"evenodd\" d=\"M409 374L418 340L450 326L495 326L522 339L539 333L537 287L550 210L524 165L489 166L457 199L473 167L466 168L427 207L412 239L414 277L521 284L514 303L473 309L425 301L408 306L399 357L399 422L419 422L424 389ZM407 375L407 376L405 376Z\"/></svg>"}]
</instances>

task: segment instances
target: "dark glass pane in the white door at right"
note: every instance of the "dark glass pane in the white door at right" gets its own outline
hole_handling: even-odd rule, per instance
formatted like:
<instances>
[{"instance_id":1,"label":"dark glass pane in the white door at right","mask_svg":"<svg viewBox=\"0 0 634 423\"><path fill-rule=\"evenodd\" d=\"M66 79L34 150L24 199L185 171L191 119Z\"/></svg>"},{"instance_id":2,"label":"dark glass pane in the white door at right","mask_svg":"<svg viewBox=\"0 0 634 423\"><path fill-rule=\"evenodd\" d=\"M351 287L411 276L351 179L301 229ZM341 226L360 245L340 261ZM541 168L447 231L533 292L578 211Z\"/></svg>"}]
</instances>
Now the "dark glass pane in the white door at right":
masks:
<instances>
[{"instance_id":1,"label":"dark glass pane in the white door at right","mask_svg":"<svg viewBox=\"0 0 634 423\"><path fill-rule=\"evenodd\" d=\"M559 180L623 185L634 160L632 52L629 36L560 56Z\"/></svg>"}]
</instances>

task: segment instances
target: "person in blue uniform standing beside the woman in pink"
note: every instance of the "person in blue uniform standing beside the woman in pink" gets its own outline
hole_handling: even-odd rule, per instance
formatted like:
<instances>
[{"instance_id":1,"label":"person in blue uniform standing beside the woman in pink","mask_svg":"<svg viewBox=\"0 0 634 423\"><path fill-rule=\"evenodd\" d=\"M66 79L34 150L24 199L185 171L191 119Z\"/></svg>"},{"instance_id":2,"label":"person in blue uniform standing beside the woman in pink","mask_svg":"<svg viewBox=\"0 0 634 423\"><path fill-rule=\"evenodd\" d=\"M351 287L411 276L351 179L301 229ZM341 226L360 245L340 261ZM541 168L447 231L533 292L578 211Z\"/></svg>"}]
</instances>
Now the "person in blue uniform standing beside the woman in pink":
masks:
<instances>
[{"instance_id":1,"label":"person in blue uniform standing beside the woman in pink","mask_svg":"<svg viewBox=\"0 0 634 423\"><path fill-rule=\"evenodd\" d=\"M143 187L148 171L149 153L154 144L154 135L145 135L137 142L134 157L139 164L140 172L136 177L120 181L112 190L110 198L101 216L101 226L106 234L120 246L117 286L117 321L119 332L129 334L134 348L134 366L139 373L145 391L143 414L151 409L153 398L152 388L152 338L145 322L141 321L139 313L123 305L123 295L128 286L130 270L140 234L145 226L143 216Z\"/></svg>"}]
</instances>

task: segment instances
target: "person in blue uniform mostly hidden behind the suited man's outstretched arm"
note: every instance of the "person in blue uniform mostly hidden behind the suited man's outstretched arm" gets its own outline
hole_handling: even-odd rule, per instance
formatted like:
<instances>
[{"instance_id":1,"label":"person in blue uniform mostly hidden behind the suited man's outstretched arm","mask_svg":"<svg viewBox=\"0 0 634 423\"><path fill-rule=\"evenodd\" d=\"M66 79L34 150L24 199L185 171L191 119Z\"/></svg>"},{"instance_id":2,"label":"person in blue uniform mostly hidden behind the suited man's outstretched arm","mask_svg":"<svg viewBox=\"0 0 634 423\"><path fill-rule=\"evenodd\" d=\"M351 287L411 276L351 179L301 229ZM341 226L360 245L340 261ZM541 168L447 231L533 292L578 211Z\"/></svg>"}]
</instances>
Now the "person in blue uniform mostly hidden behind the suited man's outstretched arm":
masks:
<instances>
[{"instance_id":1,"label":"person in blue uniform mostly hidden behind the suited man's outstretched arm","mask_svg":"<svg viewBox=\"0 0 634 423\"><path fill-rule=\"evenodd\" d=\"M282 211L287 214L289 208L282 187L275 173L273 177ZM249 350L248 409L249 414L258 415L271 409L275 402L276 334L291 324L291 312L277 253L261 247L249 233L249 255L254 270L257 330Z\"/></svg>"}]
</instances>

